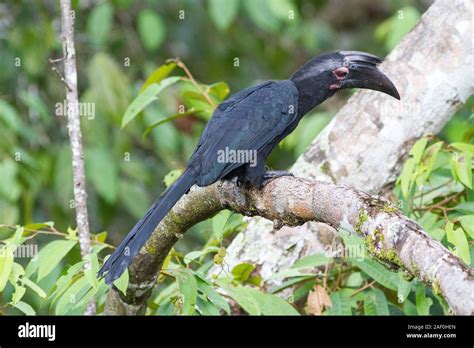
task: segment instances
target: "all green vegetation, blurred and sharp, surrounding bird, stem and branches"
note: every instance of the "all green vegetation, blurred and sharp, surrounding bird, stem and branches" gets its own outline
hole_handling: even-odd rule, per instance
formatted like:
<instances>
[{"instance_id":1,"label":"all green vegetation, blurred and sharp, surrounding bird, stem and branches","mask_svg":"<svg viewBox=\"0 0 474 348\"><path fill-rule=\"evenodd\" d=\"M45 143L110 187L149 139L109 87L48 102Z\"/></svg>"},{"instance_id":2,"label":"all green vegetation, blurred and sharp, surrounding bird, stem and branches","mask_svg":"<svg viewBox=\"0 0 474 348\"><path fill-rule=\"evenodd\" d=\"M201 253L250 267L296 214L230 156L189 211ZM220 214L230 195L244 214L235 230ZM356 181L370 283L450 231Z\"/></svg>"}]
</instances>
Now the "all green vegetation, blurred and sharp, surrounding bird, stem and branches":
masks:
<instances>
[{"instance_id":1,"label":"all green vegetation, blurred and sharp, surrounding bird, stem and branches","mask_svg":"<svg viewBox=\"0 0 474 348\"><path fill-rule=\"evenodd\" d=\"M48 62L62 55L59 6L56 1L0 4L1 311L79 314L95 297L100 312L107 288L95 278L99 263L185 166L216 104L258 81L285 79L322 52L363 50L383 57L428 6L401 0L344 4L73 1L80 97L95 108L94 117L82 118L95 234L94 269L86 274L73 229L66 120L56 112L64 85ZM198 82L176 62L165 65L172 57ZM159 98L147 97L147 87L159 88L153 94ZM349 93L305 117L268 164L289 167ZM143 112L133 112L132 101L146 106ZM438 138L415 145L392 195L471 266L472 108L471 98ZM446 313L436 291L370 258L313 255L275 275L284 280L281 286L267 288L252 275L254 265L225 266L225 247L243 227L230 212L195 226L169 255L149 314ZM349 239L348 244L363 242ZM39 255L14 257L14 248L24 244L38 245ZM222 271L209 279L213 264ZM308 273L315 266L326 266L326 272ZM125 275L117 285L126 283ZM294 284L288 301L275 295ZM230 308L219 288L239 306Z\"/></svg>"}]
</instances>

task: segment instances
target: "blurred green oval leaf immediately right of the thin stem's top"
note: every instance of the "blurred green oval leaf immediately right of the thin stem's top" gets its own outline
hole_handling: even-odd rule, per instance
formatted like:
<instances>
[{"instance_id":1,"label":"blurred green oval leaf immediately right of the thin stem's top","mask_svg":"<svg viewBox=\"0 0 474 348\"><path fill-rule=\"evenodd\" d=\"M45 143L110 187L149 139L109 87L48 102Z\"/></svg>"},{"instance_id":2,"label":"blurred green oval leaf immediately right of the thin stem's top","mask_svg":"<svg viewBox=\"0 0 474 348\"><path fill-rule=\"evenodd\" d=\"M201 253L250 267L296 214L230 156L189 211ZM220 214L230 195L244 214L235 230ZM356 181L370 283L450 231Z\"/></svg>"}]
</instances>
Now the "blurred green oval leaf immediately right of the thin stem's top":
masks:
<instances>
[{"instance_id":1,"label":"blurred green oval leaf immediately right of the thin stem's top","mask_svg":"<svg viewBox=\"0 0 474 348\"><path fill-rule=\"evenodd\" d=\"M113 7L109 3L104 2L94 7L87 21L87 33L94 45L102 46L107 42L112 19Z\"/></svg>"}]
</instances>

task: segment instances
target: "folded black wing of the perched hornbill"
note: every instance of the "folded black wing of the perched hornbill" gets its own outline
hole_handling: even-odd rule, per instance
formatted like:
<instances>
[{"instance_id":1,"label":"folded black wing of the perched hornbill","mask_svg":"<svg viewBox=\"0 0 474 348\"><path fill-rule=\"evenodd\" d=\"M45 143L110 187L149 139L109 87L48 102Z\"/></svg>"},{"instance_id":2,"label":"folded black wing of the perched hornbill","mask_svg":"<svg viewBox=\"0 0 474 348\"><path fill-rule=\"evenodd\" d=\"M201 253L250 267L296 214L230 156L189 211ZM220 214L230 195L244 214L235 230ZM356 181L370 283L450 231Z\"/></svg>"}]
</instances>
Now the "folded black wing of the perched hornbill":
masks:
<instances>
[{"instance_id":1,"label":"folded black wing of the perched hornbill","mask_svg":"<svg viewBox=\"0 0 474 348\"><path fill-rule=\"evenodd\" d=\"M233 95L214 111L190 166L198 184L210 185L242 163L218 161L219 150L259 151L296 120L298 91L289 80L270 81Z\"/></svg>"}]
</instances>

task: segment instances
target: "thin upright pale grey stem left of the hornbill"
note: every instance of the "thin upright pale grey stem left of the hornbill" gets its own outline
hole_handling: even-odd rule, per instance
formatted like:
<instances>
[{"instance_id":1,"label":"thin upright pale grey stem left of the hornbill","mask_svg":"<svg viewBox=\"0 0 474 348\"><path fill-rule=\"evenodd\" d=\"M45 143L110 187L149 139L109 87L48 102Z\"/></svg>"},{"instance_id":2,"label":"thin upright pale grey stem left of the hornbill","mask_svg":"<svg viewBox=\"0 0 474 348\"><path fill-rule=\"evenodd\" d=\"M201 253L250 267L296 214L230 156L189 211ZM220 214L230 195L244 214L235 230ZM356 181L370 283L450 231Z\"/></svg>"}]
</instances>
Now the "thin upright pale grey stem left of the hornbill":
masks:
<instances>
[{"instance_id":1,"label":"thin upright pale grey stem left of the hornbill","mask_svg":"<svg viewBox=\"0 0 474 348\"><path fill-rule=\"evenodd\" d=\"M74 203L76 209L77 234L84 268L90 268L86 258L92 252L87 214L86 178L84 174L84 152L79 115L79 96L77 92L76 49L74 47L74 12L70 0L61 0L61 39L63 41L64 78L66 84L67 127L72 150L72 169L74 180ZM56 60L58 61L58 60ZM85 314L95 313L95 304L91 302Z\"/></svg>"}]
</instances>

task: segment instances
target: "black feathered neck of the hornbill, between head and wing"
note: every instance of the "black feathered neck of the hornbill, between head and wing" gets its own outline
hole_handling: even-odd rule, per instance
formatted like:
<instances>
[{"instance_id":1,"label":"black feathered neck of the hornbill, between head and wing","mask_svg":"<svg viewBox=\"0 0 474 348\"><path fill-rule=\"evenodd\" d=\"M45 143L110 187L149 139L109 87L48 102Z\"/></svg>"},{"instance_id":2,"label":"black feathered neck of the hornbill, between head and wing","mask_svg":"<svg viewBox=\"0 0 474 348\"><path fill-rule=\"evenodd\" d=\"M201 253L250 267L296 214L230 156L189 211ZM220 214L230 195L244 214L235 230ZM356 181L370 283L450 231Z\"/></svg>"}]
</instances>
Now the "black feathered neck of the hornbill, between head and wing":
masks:
<instances>
[{"instance_id":1,"label":"black feathered neck of the hornbill, between head and wing","mask_svg":"<svg viewBox=\"0 0 474 348\"><path fill-rule=\"evenodd\" d=\"M298 90L298 117L303 117L314 107L334 95L335 91L329 89L329 76L326 74L305 74L297 71L290 80Z\"/></svg>"}]
</instances>

